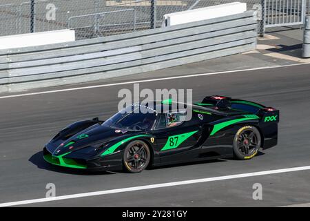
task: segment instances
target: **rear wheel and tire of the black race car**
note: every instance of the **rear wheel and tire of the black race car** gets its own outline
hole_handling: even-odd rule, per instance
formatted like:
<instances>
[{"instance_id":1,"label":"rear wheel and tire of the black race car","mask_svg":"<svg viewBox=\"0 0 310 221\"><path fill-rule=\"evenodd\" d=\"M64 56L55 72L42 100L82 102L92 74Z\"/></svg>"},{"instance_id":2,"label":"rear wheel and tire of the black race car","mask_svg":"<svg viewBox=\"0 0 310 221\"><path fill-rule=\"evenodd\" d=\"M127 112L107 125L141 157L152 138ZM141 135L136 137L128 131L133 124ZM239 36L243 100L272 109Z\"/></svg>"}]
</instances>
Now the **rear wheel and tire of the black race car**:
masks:
<instances>
[{"instance_id":1,"label":"rear wheel and tire of the black race car","mask_svg":"<svg viewBox=\"0 0 310 221\"><path fill-rule=\"evenodd\" d=\"M237 160L250 160L260 151L262 138L255 126L243 126L234 137L234 157Z\"/></svg>"}]
</instances>

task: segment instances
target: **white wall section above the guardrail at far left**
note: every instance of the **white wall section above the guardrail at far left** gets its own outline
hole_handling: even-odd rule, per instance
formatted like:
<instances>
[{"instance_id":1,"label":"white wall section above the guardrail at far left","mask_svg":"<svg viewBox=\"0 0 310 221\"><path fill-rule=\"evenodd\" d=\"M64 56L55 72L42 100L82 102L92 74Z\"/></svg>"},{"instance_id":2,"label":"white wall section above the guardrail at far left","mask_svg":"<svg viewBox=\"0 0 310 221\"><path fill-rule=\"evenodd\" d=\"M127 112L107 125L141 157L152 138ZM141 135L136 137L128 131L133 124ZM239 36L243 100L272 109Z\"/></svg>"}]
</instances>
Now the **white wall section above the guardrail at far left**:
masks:
<instances>
[{"instance_id":1,"label":"white wall section above the guardrail at far left","mask_svg":"<svg viewBox=\"0 0 310 221\"><path fill-rule=\"evenodd\" d=\"M23 48L75 41L74 30L55 30L0 37L0 49Z\"/></svg>"}]
</instances>

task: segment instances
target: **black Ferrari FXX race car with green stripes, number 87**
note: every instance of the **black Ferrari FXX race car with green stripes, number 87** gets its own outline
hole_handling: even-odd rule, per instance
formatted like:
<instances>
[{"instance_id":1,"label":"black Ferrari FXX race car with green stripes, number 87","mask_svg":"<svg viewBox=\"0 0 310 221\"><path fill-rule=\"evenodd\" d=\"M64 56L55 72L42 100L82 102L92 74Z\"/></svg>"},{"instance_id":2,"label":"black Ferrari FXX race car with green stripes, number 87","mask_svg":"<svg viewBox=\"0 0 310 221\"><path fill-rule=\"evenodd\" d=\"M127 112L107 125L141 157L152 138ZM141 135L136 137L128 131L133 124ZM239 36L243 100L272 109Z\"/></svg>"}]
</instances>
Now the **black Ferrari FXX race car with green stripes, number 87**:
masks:
<instances>
[{"instance_id":1,"label":"black Ferrari FXX race car with green stripes, number 87","mask_svg":"<svg viewBox=\"0 0 310 221\"><path fill-rule=\"evenodd\" d=\"M133 104L107 121L94 118L71 124L45 145L44 159L74 169L138 173L147 166L181 162L249 160L261 147L278 142L280 115L275 108L223 96L175 104L154 102L150 113L135 113L141 104ZM158 107L168 111L158 113ZM189 121L187 110L192 110Z\"/></svg>"}]
</instances>

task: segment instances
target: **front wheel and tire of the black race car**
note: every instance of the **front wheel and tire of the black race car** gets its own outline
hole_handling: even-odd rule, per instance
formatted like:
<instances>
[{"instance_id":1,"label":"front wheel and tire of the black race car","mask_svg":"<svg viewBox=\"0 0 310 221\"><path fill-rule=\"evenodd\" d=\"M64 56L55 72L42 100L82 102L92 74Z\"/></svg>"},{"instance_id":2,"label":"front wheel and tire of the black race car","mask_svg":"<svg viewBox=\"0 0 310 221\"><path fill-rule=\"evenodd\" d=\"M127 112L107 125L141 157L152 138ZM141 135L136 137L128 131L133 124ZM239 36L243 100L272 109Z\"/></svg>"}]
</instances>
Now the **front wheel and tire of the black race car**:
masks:
<instances>
[{"instance_id":1,"label":"front wheel and tire of the black race car","mask_svg":"<svg viewBox=\"0 0 310 221\"><path fill-rule=\"evenodd\" d=\"M149 146L142 140L127 144L123 155L124 170L129 173L141 173L147 168L151 159Z\"/></svg>"}]
</instances>

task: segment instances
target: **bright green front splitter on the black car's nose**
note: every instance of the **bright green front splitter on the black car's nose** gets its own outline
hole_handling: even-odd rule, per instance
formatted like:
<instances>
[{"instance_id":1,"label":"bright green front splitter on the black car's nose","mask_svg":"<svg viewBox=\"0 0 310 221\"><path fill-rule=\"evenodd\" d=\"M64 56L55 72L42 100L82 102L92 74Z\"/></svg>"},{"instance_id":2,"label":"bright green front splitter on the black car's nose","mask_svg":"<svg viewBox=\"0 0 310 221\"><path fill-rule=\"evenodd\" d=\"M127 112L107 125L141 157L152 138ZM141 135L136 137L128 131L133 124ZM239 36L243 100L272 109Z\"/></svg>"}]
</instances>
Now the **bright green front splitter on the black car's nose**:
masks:
<instances>
[{"instance_id":1,"label":"bright green front splitter on the black car's nose","mask_svg":"<svg viewBox=\"0 0 310 221\"><path fill-rule=\"evenodd\" d=\"M72 159L63 158L65 155L68 155L69 153L65 153L60 156L54 156L52 154L47 154L47 155L44 155L43 158L46 162L49 162L50 164L54 164L57 166L64 166L64 167L69 167L69 168L74 168L74 169L87 169L86 165L79 164L75 160L72 160Z\"/></svg>"}]
</instances>

